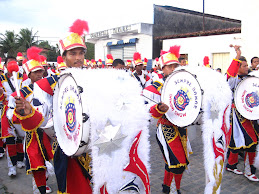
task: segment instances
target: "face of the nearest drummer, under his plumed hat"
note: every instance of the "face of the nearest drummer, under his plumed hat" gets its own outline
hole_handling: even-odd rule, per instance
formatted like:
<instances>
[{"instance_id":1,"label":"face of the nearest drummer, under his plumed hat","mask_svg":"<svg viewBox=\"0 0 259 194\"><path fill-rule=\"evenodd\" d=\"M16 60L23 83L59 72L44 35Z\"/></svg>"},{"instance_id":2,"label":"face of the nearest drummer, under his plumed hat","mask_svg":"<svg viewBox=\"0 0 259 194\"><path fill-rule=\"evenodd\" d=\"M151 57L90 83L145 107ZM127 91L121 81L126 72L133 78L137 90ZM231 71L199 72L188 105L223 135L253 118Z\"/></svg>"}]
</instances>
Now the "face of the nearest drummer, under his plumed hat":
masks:
<instances>
[{"instance_id":1,"label":"face of the nearest drummer, under his plumed hat","mask_svg":"<svg viewBox=\"0 0 259 194\"><path fill-rule=\"evenodd\" d=\"M83 48L74 48L67 51L63 60L68 67L82 67L84 64L85 50Z\"/></svg>"}]
</instances>

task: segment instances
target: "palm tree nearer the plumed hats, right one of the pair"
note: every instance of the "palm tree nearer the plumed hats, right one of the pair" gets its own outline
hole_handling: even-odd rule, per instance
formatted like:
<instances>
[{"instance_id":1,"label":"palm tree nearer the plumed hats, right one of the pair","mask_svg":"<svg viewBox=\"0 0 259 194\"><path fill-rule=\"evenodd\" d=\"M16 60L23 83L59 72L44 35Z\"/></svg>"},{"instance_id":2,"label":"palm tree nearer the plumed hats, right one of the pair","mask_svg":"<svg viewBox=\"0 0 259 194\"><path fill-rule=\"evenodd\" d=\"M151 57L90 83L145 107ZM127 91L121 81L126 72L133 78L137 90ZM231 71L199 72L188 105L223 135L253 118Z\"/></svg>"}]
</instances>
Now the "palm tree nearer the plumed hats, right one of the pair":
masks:
<instances>
[{"instance_id":1,"label":"palm tree nearer the plumed hats, right one of the pair","mask_svg":"<svg viewBox=\"0 0 259 194\"><path fill-rule=\"evenodd\" d=\"M22 28L18 34L19 51L26 51L31 46L36 46L38 43L37 33L33 34L32 29Z\"/></svg>"}]
</instances>

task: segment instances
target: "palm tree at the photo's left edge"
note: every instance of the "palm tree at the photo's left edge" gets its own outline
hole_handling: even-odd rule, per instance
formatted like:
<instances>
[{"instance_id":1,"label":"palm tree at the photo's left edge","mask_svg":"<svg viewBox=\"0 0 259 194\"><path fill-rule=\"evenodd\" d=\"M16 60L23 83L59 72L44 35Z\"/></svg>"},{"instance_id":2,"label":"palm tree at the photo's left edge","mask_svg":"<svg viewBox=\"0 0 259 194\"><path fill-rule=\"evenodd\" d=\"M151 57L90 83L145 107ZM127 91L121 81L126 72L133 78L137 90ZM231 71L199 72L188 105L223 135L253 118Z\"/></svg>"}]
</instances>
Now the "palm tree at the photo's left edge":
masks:
<instances>
[{"instance_id":1,"label":"palm tree at the photo's left edge","mask_svg":"<svg viewBox=\"0 0 259 194\"><path fill-rule=\"evenodd\" d=\"M5 34L0 34L0 54L5 56L15 56L17 50L17 35L14 31L6 31Z\"/></svg>"}]
</instances>

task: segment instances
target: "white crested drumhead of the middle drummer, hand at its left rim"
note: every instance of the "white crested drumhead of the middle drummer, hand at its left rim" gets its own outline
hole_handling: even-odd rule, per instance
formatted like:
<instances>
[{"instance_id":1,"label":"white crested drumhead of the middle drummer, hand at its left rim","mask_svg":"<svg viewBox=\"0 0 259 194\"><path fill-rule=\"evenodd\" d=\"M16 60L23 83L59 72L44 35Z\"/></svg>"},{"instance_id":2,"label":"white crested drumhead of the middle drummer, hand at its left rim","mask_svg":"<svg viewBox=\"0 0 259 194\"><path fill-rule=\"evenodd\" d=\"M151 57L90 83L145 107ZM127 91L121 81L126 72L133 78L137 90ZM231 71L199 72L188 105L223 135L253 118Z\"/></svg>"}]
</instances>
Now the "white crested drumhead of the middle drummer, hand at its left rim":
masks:
<instances>
[{"instance_id":1,"label":"white crested drumhead of the middle drummer, hand at its left rim","mask_svg":"<svg viewBox=\"0 0 259 194\"><path fill-rule=\"evenodd\" d=\"M165 115L171 123L179 127L188 126L200 113L201 87L190 72L175 71L164 83L161 101L169 106Z\"/></svg>"}]
</instances>

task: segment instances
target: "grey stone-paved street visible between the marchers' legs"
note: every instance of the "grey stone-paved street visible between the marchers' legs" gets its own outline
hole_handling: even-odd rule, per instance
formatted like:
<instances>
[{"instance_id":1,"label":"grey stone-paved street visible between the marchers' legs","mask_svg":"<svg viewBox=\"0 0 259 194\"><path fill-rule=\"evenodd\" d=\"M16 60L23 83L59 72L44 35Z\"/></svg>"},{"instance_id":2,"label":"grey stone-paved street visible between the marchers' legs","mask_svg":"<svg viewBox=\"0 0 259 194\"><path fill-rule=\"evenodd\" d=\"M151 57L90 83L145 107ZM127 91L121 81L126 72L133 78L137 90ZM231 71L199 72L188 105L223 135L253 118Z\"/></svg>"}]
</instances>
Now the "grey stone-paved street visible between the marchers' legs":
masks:
<instances>
[{"instance_id":1,"label":"grey stone-paved street visible between the marchers' legs","mask_svg":"<svg viewBox=\"0 0 259 194\"><path fill-rule=\"evenodd\" d=\"M161 184L163 182L164 161L155 139L154 123L150 127L150 142L151 142L151 192L152 194L160 194ZM197 130L196 137L192 137L191 146L193 154L190 156L189 174L183 175L181 184L181 191L183 194L197 194L203 193L205 187L205 173L203 167L203 146L201 140L201 133ZM243 160L240 160L239 169L243 168ZM7 161L5 158L0 160L0 194L14 193L14 194L29 194L32 193L31 175L25 174L25 169L17 170L17 177L11 179L7 176ZM259 173L256 174L259 177ZM57 186L55 177L50 177L48 184L56 193ZM235 175L230 172L224 172L221 193L223 194L258 194L259 182L250 182L243 175Z\"/></svg>"}]
</instances>

